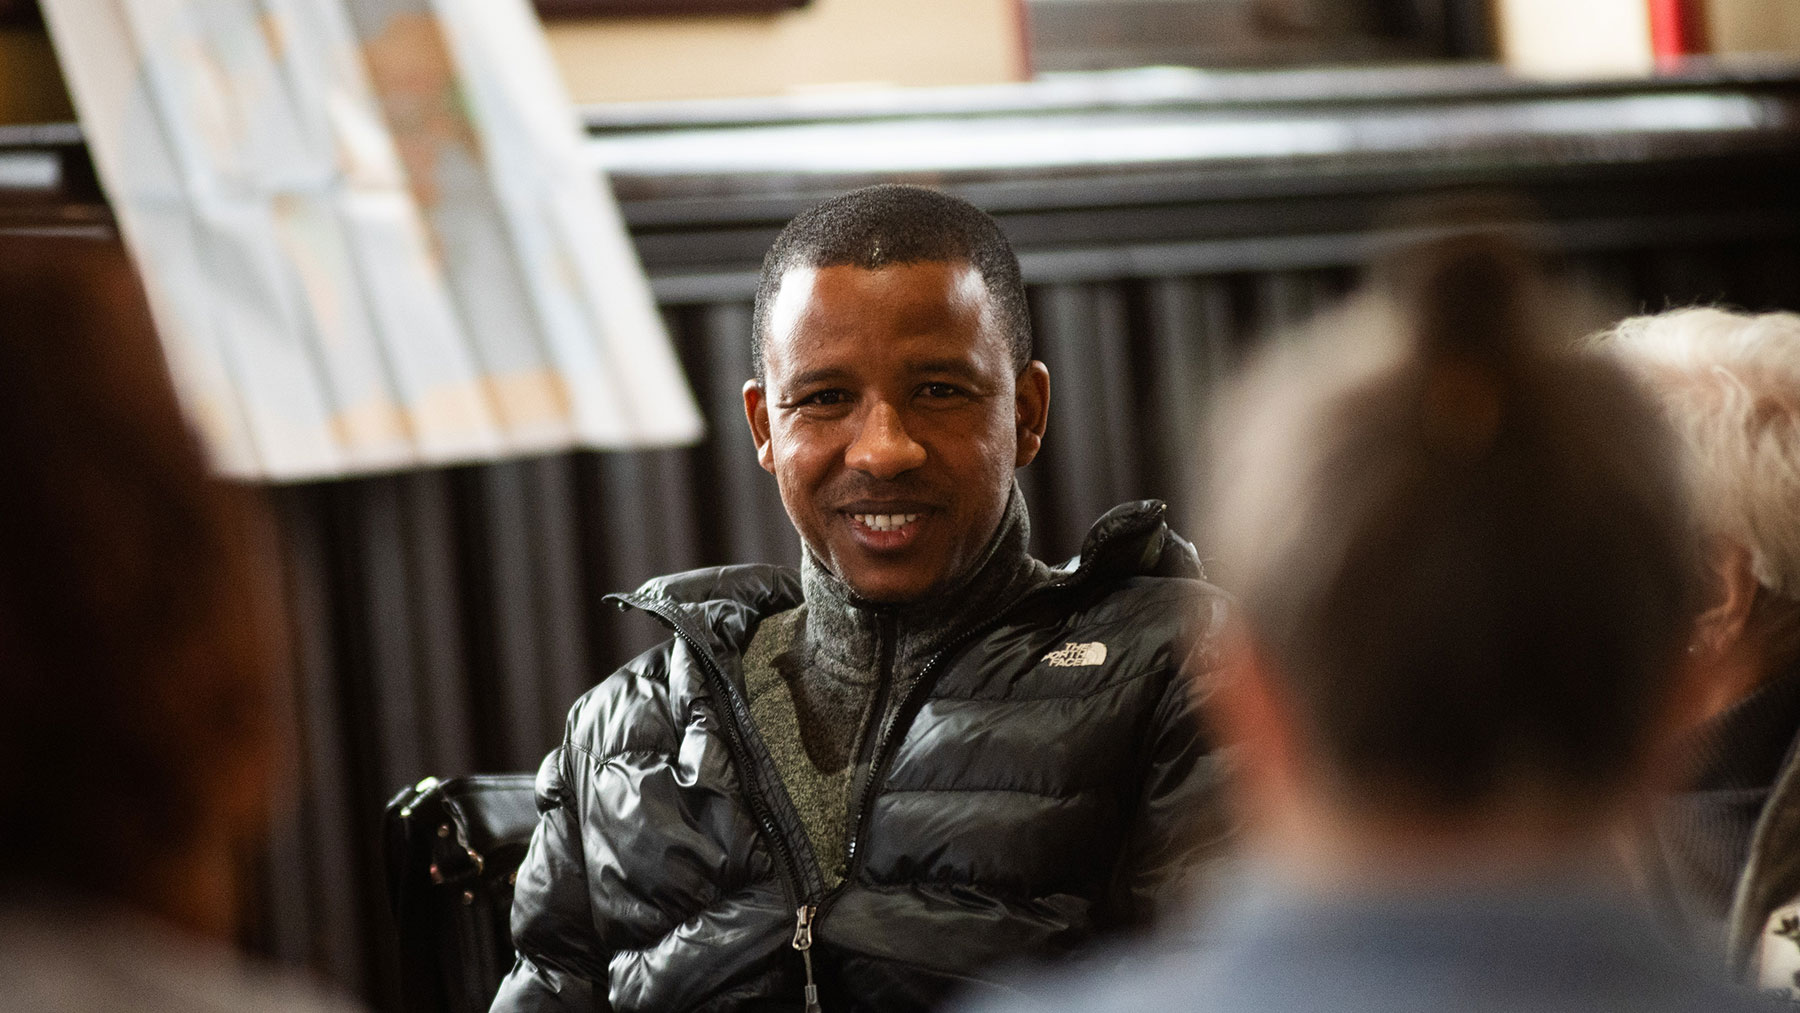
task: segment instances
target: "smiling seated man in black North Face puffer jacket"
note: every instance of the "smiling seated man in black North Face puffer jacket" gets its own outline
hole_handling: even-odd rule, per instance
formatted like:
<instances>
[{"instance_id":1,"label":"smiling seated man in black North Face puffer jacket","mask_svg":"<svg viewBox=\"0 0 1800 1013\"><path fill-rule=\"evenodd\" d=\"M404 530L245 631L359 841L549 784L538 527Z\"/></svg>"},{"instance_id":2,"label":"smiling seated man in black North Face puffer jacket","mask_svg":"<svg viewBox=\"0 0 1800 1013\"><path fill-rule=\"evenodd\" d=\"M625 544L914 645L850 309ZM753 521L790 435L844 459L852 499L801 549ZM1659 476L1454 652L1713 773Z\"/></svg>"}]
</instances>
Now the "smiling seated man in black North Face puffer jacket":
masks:
<instances>
[{"instance_id":1,"label":"smiling seated man in black North Face puffer jacket","mask_svg":"<svg viewBox=\"0 0 1800 1013\"><path fill-rule=\"evenodd\" d=\"M1143 502L1073 567L1026 552L1049 374L995 223L830 200L769 252L754 340L801 565L619 597L673 637L540 770L497 1011L925 1009L1143 925L1219 833L1193 549Z\"/></svg>"}]
</instances>

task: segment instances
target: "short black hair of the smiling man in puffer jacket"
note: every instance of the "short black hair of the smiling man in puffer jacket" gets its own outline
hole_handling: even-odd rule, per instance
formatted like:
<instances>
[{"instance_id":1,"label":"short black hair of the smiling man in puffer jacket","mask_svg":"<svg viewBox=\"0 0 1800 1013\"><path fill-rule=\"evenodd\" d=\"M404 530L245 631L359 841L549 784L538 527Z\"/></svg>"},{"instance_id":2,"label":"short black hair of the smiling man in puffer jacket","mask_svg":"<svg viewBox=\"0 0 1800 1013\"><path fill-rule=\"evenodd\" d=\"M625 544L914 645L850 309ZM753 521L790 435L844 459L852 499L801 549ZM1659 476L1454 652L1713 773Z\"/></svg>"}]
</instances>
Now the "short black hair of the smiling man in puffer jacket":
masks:
<instances>
[{"instance_id":1,"label":"short black hair of the smiling man in puffer jacket","mask_svg":"<svg viewBox=\"0 0 1800 1013\"><path fill-rule=\"evenodd\" d=\"M995 318L1012 344L1013 372L1031 363L1031 311L1019 257L1001 227L963 198L927 187L880 184L799 212L776 236L756 281L751 369L763 378L763 336L781 279L792 268L968 263L988 286Z\"/></svg>"}]
</instances>

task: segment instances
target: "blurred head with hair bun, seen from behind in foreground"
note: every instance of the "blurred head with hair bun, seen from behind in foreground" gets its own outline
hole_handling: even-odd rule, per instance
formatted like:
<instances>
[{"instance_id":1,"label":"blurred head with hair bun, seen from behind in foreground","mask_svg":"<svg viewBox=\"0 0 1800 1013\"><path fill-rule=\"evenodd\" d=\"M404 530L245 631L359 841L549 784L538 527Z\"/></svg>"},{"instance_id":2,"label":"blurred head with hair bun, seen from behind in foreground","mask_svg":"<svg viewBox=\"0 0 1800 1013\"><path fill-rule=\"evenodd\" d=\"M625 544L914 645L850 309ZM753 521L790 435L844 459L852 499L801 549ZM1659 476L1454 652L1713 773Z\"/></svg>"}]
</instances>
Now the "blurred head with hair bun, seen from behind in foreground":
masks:
<instances>
[{"instance_id":1,"label":"blurred head with hair bun, seen from behind in foreground","mask_svg":"<svg viewBox=\"0 0 1800 1013\"><path fill-rule=\"evenodd\" d=\"M1220 405L1242 612L1208 705L1300 878L1559 869L1652 775L1694 587L1674 444L1562 318L1523 252L1445 239Z\"/></svg>"}]
</instances>

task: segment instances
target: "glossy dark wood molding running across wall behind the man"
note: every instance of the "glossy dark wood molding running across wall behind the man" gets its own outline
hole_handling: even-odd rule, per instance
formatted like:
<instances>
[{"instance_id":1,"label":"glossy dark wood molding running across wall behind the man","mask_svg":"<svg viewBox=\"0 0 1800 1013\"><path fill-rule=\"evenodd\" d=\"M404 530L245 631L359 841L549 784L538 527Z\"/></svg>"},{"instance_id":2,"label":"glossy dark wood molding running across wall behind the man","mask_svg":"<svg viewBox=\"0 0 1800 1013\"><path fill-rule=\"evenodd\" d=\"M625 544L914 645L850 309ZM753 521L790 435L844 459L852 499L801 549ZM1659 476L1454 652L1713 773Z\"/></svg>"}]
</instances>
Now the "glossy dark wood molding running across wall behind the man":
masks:
<instances>
[{"instance_id":1,"label":"glossy dark wood molding running across wall behind the man","mask_svg":"<svg viewBox=\"0 0 1800 1013\"><path fill-rule=\"evenodd\" d=\"M664 304L747 300L788 218L886 180L945 187L988 209L1033 282L1352 266L1391 202L1494 187L1535 202L1568 250L1800 248L1800 65L1791 63L1694 63L1645 81L1561 85L1483 67L1157 72L637 103L594 106L587 119L589 151L612 166L612 191ZM1336 124L1343 144L1217 146L1233 124L1312 121ZM1116 160L967 157L986 135L1033 131L1103 151L1114 128L1145 124L1177 140L1156 157ZM671 139L680 144L657 148ZM920 162L925 144L950 162ZM857 149L907 158L808 162ZM734 164L734 153L756 151L774 157ZM11 178L45 182L0 193L0 232L104 220L74 124L0 128L0 171L9 158Z\"/></svg>"}]
</instances>

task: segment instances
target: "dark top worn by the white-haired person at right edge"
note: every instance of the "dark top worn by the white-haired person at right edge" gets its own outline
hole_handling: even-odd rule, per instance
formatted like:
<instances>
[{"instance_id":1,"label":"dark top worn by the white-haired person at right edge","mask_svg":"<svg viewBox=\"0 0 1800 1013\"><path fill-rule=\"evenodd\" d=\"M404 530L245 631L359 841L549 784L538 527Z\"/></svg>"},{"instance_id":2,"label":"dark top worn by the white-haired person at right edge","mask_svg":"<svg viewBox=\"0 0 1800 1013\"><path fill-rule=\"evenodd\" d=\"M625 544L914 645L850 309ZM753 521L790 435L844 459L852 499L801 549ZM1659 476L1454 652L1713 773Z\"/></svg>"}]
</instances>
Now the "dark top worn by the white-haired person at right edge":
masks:
<instances>
[{"instance_id":1,"label":"dark top worn by the white-haired person at right edge","mask_svg":"<svg viewBox=\"0 0 1800 1013\"><path fill-rule=\"evenodd\" d=\"M1683 919L1703 943L1724 943L1724 919L1750 860L1757 820L1796 734L1800 668L1791 668L1683 743L1688 786L1658 804L1656 831Z\"/></svg>"}]
</instances>

